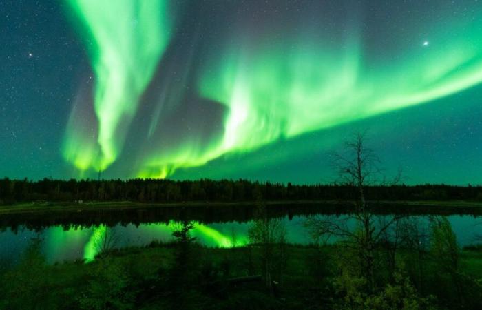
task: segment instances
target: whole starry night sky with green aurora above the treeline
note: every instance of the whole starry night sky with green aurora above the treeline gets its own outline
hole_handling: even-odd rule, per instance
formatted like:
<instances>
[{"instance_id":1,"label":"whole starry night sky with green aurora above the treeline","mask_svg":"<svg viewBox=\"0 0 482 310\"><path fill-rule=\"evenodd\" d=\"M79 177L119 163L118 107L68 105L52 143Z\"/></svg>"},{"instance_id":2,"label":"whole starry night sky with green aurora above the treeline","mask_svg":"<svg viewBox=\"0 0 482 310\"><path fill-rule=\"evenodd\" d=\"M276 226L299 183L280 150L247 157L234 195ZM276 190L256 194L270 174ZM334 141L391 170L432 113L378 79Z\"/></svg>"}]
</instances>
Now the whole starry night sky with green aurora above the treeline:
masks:
<instances>
[{"instance_id":1,"label":"whole starry night sky with green aurora above the treeline","mask_svg":"<svg viewBox=\"0 0 482 310\"><path fill-rule=\"evenodd\" d=\"M0 0L0 176L482 184L480 0Z\"/></svg>"}]
</instances>

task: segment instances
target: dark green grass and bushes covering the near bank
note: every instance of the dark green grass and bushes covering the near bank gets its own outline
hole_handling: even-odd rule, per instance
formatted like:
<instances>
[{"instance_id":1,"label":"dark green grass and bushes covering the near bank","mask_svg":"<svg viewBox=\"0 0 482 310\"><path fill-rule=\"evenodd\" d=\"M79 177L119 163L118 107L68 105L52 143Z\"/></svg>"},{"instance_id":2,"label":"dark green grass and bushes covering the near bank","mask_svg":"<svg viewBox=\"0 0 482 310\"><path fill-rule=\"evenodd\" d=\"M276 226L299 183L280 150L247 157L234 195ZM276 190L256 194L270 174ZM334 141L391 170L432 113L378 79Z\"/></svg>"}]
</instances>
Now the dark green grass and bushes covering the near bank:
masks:
<instances>
[{"instance_id":1,"label":"dark green grass and bushes covering the near bank","mask_svg":"<svg viewBox=\"0 0 482 310\"><path fill-rule=\"evenodd\" d=\"M377 248L370 288L343 244L286 245L277 225L253 225L246 247L213 249L190 238L187 224L177 242L105 249L89 264L46 265L41 241L33 240L17 265L0 271L0 309L482 307L482 249L452 248L450 227L432 227L423 247L405 243L395 266L388 247ZM269 243L255 243L263 238Z\"/></svg>"}]
</instances>

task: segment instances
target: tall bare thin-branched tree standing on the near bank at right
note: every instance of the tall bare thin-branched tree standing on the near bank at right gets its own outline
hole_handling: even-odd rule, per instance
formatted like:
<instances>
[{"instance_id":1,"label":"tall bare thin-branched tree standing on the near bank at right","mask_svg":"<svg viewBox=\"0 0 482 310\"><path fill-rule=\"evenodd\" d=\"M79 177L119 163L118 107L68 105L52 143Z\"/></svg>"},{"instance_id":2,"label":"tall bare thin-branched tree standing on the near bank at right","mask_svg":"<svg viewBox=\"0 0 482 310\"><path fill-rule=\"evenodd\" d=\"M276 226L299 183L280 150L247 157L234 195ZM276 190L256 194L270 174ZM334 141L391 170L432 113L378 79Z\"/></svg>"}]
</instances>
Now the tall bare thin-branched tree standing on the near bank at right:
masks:
<instances>
[{"instance_id":1,"label":"tall bare thin-branched tree standing on the near bank at right","mask_svg":"<svg viewBox=\"0 0 482 310\"><path fill-rule=\"evenodd\" d=\"M335 236L359 260L359 273L366 279L369 291L375 285L375 249L382 244L387 231L401 216L392 216L377 223L366 198L368 185L385 185L379 158L366 147L366 134L357 133L345 143L342 153L331 154L333 167L344 185L354 189L353 214L347 216L315 216L308 218L306 226L314 236ZM396 183L399 176L392 181ZM348 258L352 260L353 257Z\"/></svg>"}]
</instances>

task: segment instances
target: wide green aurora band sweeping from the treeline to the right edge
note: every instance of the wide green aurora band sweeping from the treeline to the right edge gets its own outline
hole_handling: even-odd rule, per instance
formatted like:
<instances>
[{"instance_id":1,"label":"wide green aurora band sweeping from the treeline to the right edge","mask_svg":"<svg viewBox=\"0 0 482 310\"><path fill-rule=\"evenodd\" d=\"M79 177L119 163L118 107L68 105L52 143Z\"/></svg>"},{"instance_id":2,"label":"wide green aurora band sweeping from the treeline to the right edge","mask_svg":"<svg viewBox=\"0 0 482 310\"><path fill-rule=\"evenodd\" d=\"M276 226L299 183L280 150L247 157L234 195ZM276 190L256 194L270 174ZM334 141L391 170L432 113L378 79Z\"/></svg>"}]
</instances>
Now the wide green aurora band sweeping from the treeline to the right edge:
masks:
<instances>
[{"instance_id":1,"label":"wide green aurora band sweeping from the treeline to the right edge","mask_svg":"<svg viewBox=\"0 0 482 310\"><path fill-rule=\"evenodd\" d=\"M251 152L281 138L421 105L482 83L482 14L434 27L381 61L349 30L329 45L300 31L269 43L233 38L204 63L198 92L229 112L219 141L188 141L143 158L138 175L165 178L225 154ZM316 31L320 31L319 29ZM457 36L454 36L457 34Z\"/></svg>"}]
</instances>

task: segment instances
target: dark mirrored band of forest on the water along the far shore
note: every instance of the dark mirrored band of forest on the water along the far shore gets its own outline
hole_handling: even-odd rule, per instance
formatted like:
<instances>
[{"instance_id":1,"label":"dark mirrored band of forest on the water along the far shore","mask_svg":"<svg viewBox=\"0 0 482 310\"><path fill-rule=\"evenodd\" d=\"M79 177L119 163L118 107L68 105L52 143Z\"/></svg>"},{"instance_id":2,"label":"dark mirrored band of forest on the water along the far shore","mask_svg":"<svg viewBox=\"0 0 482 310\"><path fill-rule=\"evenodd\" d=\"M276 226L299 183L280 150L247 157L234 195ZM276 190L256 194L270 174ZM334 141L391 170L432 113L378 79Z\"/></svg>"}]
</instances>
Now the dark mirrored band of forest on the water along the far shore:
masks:
<instances>
[{"instance_id":1,"label":"dark mirrored band of forest on the water along the far shore","mask_svg":"<svg viewBox=\"0 0 482 310\"><path fill-rule=\"evenodd\" d=\"M289 218L315 214L341 215L353 211L354 204L339 200L269 201L269 218ZM42 229L52 225L107 225L118 223L169 223L193 220L200 223L246 223L253 219L260 203L23 203L0 207L0 227ZM384 201L370 203L374 214L470 215L482 216L482 204L471 201Z\"/></svg>"}]
</instances>

